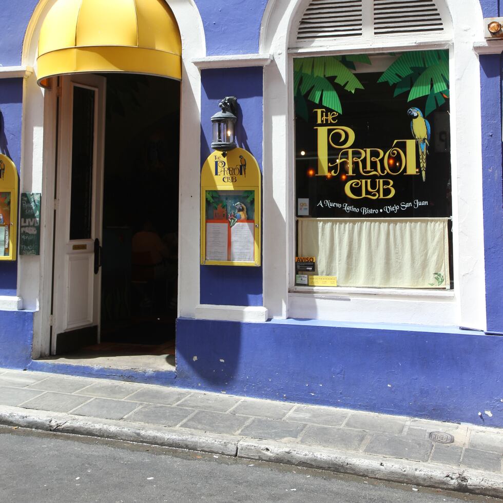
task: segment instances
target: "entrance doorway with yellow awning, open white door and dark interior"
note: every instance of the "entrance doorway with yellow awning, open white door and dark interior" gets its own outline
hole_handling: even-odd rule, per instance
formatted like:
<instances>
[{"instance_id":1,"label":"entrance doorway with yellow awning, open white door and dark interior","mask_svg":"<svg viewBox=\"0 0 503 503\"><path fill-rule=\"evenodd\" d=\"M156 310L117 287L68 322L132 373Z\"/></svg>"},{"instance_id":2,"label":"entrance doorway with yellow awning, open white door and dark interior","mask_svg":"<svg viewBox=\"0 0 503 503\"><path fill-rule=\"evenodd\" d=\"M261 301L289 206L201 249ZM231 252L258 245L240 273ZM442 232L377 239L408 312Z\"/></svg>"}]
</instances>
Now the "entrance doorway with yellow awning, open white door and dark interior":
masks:
<instances>
[{"instance_id":1,"label":"entrance doorway with yellow awning, open white door and dark interior","mask_svg":"<svg viewBox=\"0 0 503 503\"><path fill-rule=\"evenodd\" d=\"M169 338L178 314L177 275L172 269L179 215L180 79L185 72L177 20L164 0L141 6L134 2L103 6L84 0L41 4L27 33L31 47L25 49L32 51L33 38L38 37L36 80L49 87L44 98L45 129L51 119L57 124L55 134L45 133L52 141L44 141L43 155L45 166L50 169L52 161L57 168L52 175L49 169L45 173L46 194L52 188L55 195L54 275L50 288L47 277L40 286L34 357L107 338L113 343L148 342L156 330L147 325L164 321L164 311L170 311L172 319L171 328L163 331ZM51 28L53 23L61 27L63 19L73 36ZM52 33L57 36L51 37ZM197 87L193 81L187 84ZM194 106L187 111L194 118ZM85 165L84 161L89 166L81 166L84 174L79 175L78 164ZM173 202L169 222L160 209L168 199ZM147 220L151 225L154 220L160 241L164 237L169 243L162 262L171 257L170 267L132 263L132 236ZM46 268L47 252L42 259ZM133 265L142 266L153 278L143 274L133 281ZM152 302L149 297L154 294ZM164 311L152 305L161 297ZM131 330L135 317L143 319L143 328Z\"/></svg>"}]
</instances>

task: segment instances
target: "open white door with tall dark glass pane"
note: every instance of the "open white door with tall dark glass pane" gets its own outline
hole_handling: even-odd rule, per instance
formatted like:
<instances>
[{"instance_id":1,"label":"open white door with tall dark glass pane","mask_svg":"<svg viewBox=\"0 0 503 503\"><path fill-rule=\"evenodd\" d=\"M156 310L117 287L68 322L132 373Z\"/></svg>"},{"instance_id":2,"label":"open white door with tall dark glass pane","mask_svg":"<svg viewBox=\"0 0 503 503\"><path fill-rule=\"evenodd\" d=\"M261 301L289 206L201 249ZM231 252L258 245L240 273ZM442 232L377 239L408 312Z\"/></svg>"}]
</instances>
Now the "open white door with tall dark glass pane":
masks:
<instances>
[{"instance_id":1,"label":"open white door with tall dark glass pane","mask_svg":"<svg viewBox=\"0 0 503 503\"><path fill-rule=\"evenodd\" d=\"M99 342L106 79L62 76L51 354Z\"/></svg>"}]
</instances>

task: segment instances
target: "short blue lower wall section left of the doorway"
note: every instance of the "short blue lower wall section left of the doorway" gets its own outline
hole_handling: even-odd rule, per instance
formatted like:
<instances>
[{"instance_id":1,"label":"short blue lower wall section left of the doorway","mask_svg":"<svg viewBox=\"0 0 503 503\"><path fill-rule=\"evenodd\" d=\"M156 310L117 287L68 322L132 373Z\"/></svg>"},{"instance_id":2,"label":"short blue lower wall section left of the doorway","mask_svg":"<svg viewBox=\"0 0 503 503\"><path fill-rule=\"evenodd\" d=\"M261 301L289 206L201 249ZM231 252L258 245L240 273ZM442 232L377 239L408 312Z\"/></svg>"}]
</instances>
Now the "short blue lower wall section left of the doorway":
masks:
<instances>
[{"instance_id":1,"label":"short blue lower wall section left of the doorway","mask_svg":"<svg viewBox=\"0 0 503 503\"><path fill-rule=\"evenodd\" d=\"M0 311L0 366L26 369L33 346L33 312Z\"/></svg>"}]
</instances>

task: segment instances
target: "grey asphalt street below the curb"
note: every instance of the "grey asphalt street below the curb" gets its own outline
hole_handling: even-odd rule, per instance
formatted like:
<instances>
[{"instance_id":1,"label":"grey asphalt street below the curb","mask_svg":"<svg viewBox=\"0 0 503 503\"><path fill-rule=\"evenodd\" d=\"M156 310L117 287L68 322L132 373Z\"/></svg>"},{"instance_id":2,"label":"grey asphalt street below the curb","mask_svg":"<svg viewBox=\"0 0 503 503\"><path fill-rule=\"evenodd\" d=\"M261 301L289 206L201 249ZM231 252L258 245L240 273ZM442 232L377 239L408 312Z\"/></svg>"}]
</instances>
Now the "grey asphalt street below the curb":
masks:
<instances>
[{"instance_id":1,"label":"grey asphalt street below the curb","mask_svg":"<svg viewBox=\"0 0 503 503\"><path fill-rule=\"evenodd\" d=\"M20 502L498 501L321 470L0 427L0 499Z\"/></svg>"}]
</instances>

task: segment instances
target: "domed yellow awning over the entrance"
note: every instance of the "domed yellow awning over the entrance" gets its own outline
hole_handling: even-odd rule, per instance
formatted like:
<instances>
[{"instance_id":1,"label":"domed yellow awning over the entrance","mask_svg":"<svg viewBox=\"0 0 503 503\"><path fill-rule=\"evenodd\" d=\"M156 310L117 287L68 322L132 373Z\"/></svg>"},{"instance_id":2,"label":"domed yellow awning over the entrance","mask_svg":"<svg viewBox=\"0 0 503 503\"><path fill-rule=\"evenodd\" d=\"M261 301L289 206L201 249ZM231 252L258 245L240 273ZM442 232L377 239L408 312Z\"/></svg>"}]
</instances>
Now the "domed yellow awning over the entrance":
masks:
<instances>
[{"instance_id":1,"label":"domed yellow awning over the entrance","mask_svg":"<svg viewBox=\"0 0 503 503\"><path fill-rule=\"evenodd\" d=\"M38 40L37 80L81 72L182 78L182 41L164 0L57 0Z\"/></svg>"}]
</instances>

